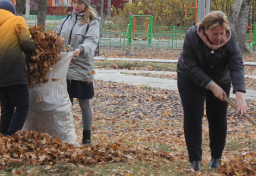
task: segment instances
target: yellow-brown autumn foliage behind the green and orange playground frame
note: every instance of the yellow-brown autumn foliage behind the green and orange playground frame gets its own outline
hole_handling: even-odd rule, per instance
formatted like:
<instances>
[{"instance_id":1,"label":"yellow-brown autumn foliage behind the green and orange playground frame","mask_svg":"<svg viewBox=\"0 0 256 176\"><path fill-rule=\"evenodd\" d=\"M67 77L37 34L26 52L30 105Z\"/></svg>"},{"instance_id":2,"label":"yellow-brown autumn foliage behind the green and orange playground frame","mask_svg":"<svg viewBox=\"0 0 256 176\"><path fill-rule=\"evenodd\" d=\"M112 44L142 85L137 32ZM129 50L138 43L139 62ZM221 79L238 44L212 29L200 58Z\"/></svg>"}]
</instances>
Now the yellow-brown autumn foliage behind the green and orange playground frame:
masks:
<instances>
[{"instance_id":1,"label":"yellow-brown autumn foliage behind the green and orange playground frame","mask_svg":"<svg viewBox=\"0 0 256 176\"><path fill-rule=\"evenodd\" d=\"M214 0L211 1L211 11L224 11L230 13L234 0ZM180 26L189 27L196 21L196 9L188 8L186 18L186 8L196 6L196 0L133 0L133 3L124 4L123 10L118 11L112 19L114 23L129 23L129 15L152 15L156 26ZM115 15L113 13L113 15ZM146 18L137 18L136 24L145 25Z\"/></svg>"}]
</instances>

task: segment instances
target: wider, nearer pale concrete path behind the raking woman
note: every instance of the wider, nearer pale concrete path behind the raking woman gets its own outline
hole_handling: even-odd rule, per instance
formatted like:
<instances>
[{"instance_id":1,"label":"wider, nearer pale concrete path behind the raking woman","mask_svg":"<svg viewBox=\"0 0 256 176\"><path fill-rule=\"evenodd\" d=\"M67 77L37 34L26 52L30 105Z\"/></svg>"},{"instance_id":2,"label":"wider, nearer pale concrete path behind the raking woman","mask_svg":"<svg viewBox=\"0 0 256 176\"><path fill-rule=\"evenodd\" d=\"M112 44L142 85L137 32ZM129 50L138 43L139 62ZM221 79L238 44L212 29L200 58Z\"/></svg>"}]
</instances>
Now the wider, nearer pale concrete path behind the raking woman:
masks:
<instances>
[{"instance_id":1,"label":"wider, nearer pale concrete path behind the raking woman","mask_svg":"<svg viewBox=\"0 0 256 176\"><path fill-rule=\"evenodd\" d=\"M158 59L156 59L158 60ZM133 85L144 85L154 88L168 89L168 90L178 90L177 80L171 79L159 79L155 77L144 77L144 76L134 76L127 75L123 73L157 73L157 74L174 74L176 72L156 72L156 71L144 71L144 70L100 70L96 69L95 79L103 81L112 81L112 82L121 82L128 83ZM245 76L256 78L256 76ZM235 94L230 94L231 98L235 98ZM256 101L256 91L247 90L245 93L245 99L255 100Z\"/></svg>"}]
</instances>

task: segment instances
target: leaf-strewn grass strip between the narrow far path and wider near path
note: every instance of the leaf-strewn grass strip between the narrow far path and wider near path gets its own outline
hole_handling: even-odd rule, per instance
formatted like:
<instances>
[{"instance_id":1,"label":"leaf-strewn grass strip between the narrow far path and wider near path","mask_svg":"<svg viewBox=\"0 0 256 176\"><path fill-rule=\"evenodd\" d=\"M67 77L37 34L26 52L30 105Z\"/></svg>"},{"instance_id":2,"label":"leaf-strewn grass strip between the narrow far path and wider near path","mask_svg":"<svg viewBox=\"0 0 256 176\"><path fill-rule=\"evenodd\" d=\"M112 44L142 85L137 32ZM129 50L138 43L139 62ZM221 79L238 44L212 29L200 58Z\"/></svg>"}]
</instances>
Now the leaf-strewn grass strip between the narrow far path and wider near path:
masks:
<instances>
[{"instance_id":1,"label":"leaf-strewn grass strip between the narrow far path and wider near path","mask_svg":"<svg viewBox=\"0 0 256 176\"><path fill-rule=\"evenodd\" d=\"M95 60L96 69L137 69L176 71L176 63L132 62L124 60Z\"/></svg>"}]
</instances>

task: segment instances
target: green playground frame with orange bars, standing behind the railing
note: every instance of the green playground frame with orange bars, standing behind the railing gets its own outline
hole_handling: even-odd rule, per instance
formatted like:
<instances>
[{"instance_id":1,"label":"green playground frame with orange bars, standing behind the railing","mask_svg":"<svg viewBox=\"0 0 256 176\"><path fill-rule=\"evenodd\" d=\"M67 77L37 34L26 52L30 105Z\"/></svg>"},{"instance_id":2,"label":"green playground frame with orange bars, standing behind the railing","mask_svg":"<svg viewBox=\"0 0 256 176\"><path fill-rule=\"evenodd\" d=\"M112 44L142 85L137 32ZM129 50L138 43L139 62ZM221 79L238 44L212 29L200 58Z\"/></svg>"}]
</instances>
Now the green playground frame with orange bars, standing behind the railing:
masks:
<instances>
[{"instance_id":1,"label":"green playground frame with orange bars, standing behind the railing","mask_svg":"<svg viewBox=\"0 0 256 176\"><path fill-rule=\"evenodd\" d=\"M142 16L147 17L146 21L146 40L148 40L148 45L152 43L152 34L153 34L153 16L151 15L130 15L129 16L129 25L127 26L128 33L128 45L132 44L132 40L136 40L135 37L135 23L136 17Z\"/></svg>"}]
</instances>

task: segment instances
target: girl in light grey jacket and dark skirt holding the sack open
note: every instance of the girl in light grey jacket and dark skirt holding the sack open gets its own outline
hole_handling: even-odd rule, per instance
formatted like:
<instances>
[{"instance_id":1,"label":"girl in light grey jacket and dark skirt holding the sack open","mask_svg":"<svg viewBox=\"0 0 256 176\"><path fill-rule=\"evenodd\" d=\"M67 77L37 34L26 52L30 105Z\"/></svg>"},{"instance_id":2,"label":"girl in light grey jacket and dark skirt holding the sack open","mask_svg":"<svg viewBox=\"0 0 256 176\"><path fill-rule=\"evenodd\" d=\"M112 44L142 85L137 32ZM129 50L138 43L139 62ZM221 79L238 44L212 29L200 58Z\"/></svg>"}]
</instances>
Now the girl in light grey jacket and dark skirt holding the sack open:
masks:
<instances>
[{"instance_id":1,"label":"girl in light grey jacket and dark skirt holding the sack open","mask_svg":"<svg viewBox=\"0 0 256 176\"><path fill-rule=\"evenodd\" d=\"M99 41L99 22L97 12L90 8L90 0L73 0L73 12L62 19L55 28L59 36L65 38L63 46L74 51L75 62L69 66L67 83L70 100L77 98L82 110L82 144L90 145L93 112L90 99L94 96L93 74L95 49Z\"/></svg>"}]
</instances>

